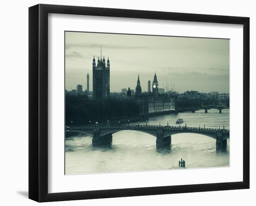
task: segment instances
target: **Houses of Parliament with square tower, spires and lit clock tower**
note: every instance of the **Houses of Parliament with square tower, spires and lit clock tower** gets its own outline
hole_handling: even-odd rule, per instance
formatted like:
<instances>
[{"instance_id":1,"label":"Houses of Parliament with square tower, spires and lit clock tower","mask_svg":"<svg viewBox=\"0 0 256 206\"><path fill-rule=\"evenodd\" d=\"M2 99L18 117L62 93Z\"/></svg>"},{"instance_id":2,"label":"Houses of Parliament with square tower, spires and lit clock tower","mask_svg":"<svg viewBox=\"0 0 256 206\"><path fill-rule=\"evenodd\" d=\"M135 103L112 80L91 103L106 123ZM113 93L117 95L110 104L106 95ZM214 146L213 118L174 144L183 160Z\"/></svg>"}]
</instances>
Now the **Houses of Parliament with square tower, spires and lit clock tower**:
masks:
<instances>
[{"instance_id":1,"label":"Houses of Parliament with square tower, spires and lit clock tower","mask_svg":"<svg viewBox=\"0 0 256 206\"><path fill-rule=\"evenodd\" d=\"M128 88L126 97L114 96L114 98L135 100L140 106L142 114L175 109L173 97L168 93L159 93L156 73L152 82L152 92L150 87L149 80L148 92L142 93L140 77L138 75L135 95L132 95L130 88ZM95 57L93 58L93 100L106 100L109 98L113 98L110 95L110 61L109 58L106 61L104 56L102 59L101 53L101 58L98 57L97 65Z\"/></svg>"}]
</instances>

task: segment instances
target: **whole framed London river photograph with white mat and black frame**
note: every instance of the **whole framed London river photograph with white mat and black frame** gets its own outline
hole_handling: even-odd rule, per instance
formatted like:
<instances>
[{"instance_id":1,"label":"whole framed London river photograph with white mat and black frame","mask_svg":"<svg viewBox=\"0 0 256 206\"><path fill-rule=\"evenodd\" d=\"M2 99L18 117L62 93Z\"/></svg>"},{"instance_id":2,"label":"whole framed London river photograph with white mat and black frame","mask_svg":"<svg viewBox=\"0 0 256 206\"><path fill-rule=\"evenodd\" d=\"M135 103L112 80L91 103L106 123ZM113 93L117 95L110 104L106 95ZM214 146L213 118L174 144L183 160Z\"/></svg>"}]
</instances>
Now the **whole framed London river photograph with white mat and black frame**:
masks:
<instances>
[{"instance_id":1,"label":"whole framed London river photograph with white mat and black frame","mask_svg":"<svg viewBox=\"0 0 256 206\"><path fill-rule=\"evenodd\" d=\"M29 198L249 188L249 18L29 8Z\"/></svg>"}]
</instances>

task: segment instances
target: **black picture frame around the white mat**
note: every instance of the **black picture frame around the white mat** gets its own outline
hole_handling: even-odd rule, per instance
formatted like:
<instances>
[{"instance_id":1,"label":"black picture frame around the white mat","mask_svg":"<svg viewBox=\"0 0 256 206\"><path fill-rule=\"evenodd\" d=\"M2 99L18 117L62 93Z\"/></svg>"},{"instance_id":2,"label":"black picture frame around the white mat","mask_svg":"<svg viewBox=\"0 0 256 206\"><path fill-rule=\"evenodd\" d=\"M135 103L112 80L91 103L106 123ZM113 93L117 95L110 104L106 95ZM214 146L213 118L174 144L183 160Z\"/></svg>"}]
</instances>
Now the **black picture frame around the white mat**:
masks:
<instances>
[{"instance_id":1,"label":"black picture frame around the white mat","mask_svg":"<svg viewBox=\"0 0 256 206\"><path fill-rule=\"evenodd\" d=\"M243 181L48 193L48 14L80 14L243 25ZM29 199L38 202L249 188L249 18L39 4L29 8Z\"/></svg>"}]
</instances>

